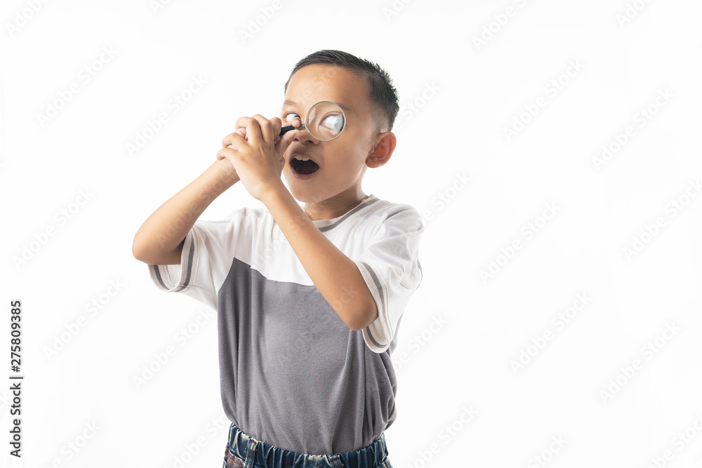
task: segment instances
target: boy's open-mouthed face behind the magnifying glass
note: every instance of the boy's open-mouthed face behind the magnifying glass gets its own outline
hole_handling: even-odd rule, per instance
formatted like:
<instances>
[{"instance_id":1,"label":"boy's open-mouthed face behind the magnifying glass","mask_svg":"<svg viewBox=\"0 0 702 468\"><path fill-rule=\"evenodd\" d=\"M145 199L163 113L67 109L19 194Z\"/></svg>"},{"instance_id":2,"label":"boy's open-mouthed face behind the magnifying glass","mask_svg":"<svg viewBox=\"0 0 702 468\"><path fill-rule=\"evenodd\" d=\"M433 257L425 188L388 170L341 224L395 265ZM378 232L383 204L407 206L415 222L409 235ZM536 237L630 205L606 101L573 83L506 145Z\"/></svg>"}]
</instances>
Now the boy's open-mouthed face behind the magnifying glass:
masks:
<instances>
[{"instance_id":1,"label":"boy's open-mouthed face behind the magnifying glass","mask_svg":"<svg viewBox=\"0 0 702 468\"><path fill-rule=\"evenodd\" d=\"M366 81L333 65L307 65L291 76L280 115L283 126L289 125L290 114L299 116L304 123L307 111L319 101L336 102L346 116L344 130L335 140L319 141L302 131L286 149L283 174L298 201L319 203L332 197L355 201L363 193L366 160L380 135L369 91ZM292 163L294 154L312 159L319 165L317 172L298 177ZM382 165L369 163L372 167Z\"/></svg>"}]
</instances>

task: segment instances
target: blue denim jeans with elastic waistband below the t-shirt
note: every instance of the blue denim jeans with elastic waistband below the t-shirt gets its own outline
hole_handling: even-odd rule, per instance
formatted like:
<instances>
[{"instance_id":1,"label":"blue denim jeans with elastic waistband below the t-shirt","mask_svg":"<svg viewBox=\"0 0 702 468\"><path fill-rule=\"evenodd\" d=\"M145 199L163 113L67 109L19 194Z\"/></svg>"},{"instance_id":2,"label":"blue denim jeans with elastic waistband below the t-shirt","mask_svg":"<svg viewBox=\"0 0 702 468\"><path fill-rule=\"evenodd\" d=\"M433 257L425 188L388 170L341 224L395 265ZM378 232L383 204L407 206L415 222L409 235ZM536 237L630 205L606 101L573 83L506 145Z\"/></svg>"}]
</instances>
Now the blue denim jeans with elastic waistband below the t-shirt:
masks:
<instances>
[{"instance_id":1,"label":"blue denim jeans with elastic waistband below the t-shirt","mask_svg":"<svg viewBox=\"0 0 702 468\"><path fill-rule=\"evenodd\" d=\"M333 455L307 455L270 446L244 434L239 427L229 428L229 440L222 468L392 468L385 446L385 434L371 445L352 452Z\"/></svg>"}]
</instances>

